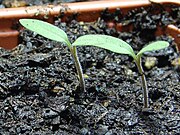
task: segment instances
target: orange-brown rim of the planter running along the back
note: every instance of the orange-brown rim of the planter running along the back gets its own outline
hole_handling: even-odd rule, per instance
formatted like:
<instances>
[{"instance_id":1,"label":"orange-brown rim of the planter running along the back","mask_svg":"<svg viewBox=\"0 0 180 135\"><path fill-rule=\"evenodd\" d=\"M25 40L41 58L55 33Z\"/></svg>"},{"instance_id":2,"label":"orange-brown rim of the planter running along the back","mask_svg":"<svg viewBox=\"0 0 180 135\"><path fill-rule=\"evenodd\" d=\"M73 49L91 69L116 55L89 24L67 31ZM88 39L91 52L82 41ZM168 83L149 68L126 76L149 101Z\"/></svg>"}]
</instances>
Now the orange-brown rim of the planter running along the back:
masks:
<instances>
[{"instance_id":1,"label":"orange-brown rim of the planter running along the back","mask_svg":"<svg viewBox=\"0 0 180 135\"><path fill-rule=\"evenodd\" d=\"M150 2L152 1L152 3ZM36 17L36 15L58 15L60 10L72 14L74 12L88 12L98 11L105 8L109 10L115 8L133 8L148 6L153 3L164 4L164 5L180 5L178 0L102 0L102 1L91 1L91 2L76 2L76 3L64 3L60 5L41 5L41 6L29 6L19 8L4 8L0 9L0 19L8 18L22 18L22 17ZM21 16L21 17L19 17Z\"/></svg>"}]
</instances>

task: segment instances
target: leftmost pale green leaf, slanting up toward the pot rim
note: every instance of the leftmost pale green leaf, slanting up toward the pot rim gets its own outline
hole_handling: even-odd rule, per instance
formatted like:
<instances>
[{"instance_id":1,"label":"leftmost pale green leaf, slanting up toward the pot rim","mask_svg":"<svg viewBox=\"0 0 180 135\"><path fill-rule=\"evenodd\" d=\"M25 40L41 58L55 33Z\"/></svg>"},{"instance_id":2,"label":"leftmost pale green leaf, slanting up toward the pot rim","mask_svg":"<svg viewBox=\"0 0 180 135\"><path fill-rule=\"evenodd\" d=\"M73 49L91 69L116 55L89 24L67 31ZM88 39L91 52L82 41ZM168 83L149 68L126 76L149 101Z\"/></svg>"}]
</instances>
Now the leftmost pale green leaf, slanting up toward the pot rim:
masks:
<instances>
[{"instance_id":1,"label":"leftmost pale green leaf, slanting up toward the pot rim","mask_svg":"<svg viewBox=\"0 0 180 135\"><path fill-rule=\"evenodd\" d=\"M64 42L70 46L67 34L60 28L36 19L20 19L19 22L27 29L38 33L41 36L55 40L58 42Z\"/></svg>"}]
</instances>

